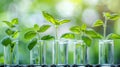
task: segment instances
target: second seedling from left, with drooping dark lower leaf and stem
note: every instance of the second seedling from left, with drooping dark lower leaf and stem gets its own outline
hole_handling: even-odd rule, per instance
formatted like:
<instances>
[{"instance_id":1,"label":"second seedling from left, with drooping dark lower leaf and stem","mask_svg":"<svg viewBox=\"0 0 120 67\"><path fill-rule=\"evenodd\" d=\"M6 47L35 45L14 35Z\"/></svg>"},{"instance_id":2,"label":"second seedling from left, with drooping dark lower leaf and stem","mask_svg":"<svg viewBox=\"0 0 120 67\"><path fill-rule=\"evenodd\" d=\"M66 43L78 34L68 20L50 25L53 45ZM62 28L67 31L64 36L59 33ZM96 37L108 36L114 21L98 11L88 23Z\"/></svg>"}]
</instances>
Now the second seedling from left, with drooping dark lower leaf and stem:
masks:
<instances>
[{"instance_id":1,"label":"second seedling from left, with drooping dark lower leaf and stem","mask_svg":"<svg viewBox=\"0 0 120 67\"><path fill-rule=\"evenodd\" d=\"M51 40L51 39L54 39L53 36L51 35L45 35L43 37L41 37L41 34L44 33L45 31L47 31L48 29L50 28L50 25L42 25L42 26L39 26L37 24L34 25L34 27L32 28L33 30L30 30L28 32L25 33L24 35L24 38L25 39L28 39L28 40L31 40L28 44L28 49L31 51L35 45L37 43L39 43L38 41L39 40ZM40 51L40 64L42 63L42 43L39 43L39 51ZM38 58L36 60L36 62L38 63Z\"/></svg>"}]
</instances>

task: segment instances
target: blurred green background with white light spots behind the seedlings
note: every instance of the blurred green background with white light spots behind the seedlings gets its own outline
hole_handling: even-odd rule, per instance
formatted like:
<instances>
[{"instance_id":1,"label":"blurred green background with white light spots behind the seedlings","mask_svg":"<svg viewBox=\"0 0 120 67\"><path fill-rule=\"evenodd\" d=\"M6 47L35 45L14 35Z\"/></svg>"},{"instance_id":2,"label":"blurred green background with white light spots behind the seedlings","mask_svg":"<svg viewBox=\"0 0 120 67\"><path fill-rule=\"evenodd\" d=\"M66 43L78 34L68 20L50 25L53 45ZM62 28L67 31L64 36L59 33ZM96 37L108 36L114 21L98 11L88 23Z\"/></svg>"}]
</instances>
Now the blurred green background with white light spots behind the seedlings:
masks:
<instances>
[{"instance_id":1,"label":"blurred green background with white light spots behind the seedlings","mask_svg":"<svg viewBox=\"0 0 120 67\"><path fill-rule=\"evenodd\" d=\"M59 36L70 32L69 28L73 25L86 23L92 28L97 19L104 20L103 12L117 13L120 15L120 0L0 0L0 40L6 36L4 30L7 26L3 20L10 21L19 18L20 30L20 64L29 64L29 50L27 42L23 37L24 33L34 24L50 24L42 16L41 12L46 11L58 19L70 19L71 22L64 24L59 29ZM107 34L114 32L120 34L120 19L109 21ZM102 34L102 27L95 28ZM54 35L52 26L45 34ZM120 63L120 40L115 40L115 64ZM89 63L98 63L98 40L94 40L89 49ZM3 64L3 46L0 44L0 64Z\"/></svg>"}]
</instances>

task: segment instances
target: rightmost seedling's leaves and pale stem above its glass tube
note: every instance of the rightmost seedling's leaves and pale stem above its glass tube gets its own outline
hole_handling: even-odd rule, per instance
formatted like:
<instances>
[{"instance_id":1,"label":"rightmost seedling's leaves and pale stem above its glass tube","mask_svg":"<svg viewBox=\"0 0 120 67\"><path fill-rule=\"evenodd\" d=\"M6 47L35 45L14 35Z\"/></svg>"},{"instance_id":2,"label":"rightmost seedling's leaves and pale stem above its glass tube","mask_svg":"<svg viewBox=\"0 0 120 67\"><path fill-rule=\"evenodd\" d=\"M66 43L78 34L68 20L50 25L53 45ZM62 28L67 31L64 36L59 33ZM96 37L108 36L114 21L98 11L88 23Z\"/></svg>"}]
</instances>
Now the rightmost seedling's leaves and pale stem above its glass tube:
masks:
<instances>
[{"instance_id":1,"label":"rightmost seedling's leaves and pale stem above its glass tube","mask_svg":"<svg viewBox=\"0 0 120 67\"><path fill-rule=\"evenodd\" d=\"M94 23L93 27L103 26L102 39L120 39L120 35L115 34L115 33L110 33L106 35L107 23L109 23L108 20L115 21L115 20L118 20L120 16L117 14L110 14L108 12L103 13L103 16L105 18L105 21L103 22L102 20L99 19Z\"/></svg>"}]
</instances>

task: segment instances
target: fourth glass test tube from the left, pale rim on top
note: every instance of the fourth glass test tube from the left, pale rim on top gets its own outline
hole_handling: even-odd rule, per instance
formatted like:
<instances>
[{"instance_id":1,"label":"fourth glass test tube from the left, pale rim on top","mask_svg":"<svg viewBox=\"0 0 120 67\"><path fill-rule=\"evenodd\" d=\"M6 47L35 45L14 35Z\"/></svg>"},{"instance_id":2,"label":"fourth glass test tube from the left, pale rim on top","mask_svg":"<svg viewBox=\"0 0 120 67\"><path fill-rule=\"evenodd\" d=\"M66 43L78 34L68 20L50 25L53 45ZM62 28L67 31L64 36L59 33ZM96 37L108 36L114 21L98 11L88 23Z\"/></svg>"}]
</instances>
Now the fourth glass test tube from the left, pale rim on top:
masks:
<instances>
[{"instance_id":1,"label":"fourth glass test tube from the left, pale rim on top","mask_svg":"<svg viewBox=\"0 0 120 67\"><path fill-rule=\"evenodd\" d=\"M75 43L75 60L74 64L87 64L87 46L82 40L78 40Z\"/></svg>"}]
</instances>

